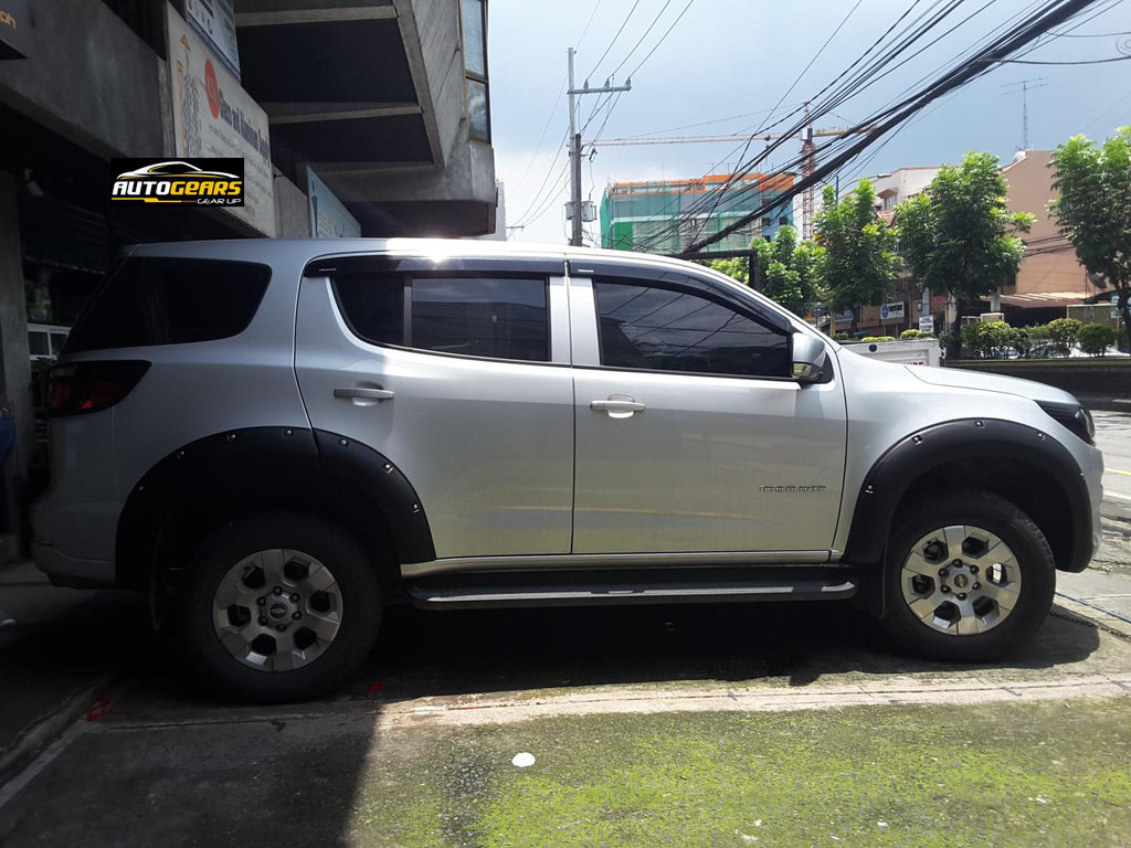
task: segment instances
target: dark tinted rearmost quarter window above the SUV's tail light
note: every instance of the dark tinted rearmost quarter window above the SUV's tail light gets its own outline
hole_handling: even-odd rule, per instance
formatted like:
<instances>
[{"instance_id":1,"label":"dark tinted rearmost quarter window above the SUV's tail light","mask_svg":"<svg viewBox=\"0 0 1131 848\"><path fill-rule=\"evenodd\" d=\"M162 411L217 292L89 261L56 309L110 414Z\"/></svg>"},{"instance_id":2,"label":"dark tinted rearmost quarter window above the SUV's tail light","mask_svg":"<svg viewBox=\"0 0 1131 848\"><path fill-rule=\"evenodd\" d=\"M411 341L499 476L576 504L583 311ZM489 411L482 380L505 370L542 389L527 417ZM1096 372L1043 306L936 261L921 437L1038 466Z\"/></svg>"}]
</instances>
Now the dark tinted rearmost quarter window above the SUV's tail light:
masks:
<instances>
[{"instance_id":1,"label":"dark tinted rearmost quarter window above the SUV's tail light","mask_svg":"<svg viewBox=\"0 0 1131 848\"><path fill-rule=\"evenodd\" d=\"M248 328L271 271L215 259L123 262L67 339L67 353L211 341Z\"/></svg>"}]
</instances>

